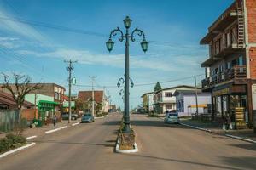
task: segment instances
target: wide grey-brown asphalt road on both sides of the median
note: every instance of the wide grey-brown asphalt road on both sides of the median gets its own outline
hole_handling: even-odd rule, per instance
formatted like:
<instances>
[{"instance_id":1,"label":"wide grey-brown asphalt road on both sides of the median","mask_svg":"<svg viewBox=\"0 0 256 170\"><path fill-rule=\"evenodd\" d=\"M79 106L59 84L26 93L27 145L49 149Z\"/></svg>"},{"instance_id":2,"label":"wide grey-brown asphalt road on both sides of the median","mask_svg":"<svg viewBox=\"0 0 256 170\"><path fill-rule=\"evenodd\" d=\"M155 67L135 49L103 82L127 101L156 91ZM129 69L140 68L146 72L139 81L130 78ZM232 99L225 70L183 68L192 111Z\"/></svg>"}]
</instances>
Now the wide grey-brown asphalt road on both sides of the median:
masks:
<instances>
[{"instance_id":1,"label":"wide grey-brown asphalt road on both sides of the median","mask_svg":"<svg viewBox=\"0 0 256 170\"><path fill-rule=\"evenodd\" d=\"M0 159L1 170L256 169L256 144L131 116L139 152L113 152L120 117L113 114L35 139L37 143Z\"/></svg>"}]
</instances>

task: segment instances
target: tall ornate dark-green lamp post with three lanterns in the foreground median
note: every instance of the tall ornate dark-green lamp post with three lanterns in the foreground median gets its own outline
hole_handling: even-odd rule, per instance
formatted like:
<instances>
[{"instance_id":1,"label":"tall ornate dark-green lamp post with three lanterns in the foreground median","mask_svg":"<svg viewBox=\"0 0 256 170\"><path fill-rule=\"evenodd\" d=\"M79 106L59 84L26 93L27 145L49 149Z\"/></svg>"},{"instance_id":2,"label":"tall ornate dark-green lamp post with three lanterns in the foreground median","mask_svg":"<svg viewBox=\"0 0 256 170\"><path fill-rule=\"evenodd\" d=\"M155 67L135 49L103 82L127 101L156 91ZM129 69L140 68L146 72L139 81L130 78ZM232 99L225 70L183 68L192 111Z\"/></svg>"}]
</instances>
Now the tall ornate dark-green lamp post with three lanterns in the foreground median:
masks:
<instances>
[{"instance_id":1,"label":"tall ornate dark-green lamp post with three lanterns in the foreground median","mask_svg":"<svg viewBox=\"0 0 256 170\"><path fill-rule=\"evenodd\" d=\"M141 47L143 48L143 52L146 53L148 50L148 42L145 39L144 32L136 28L134 31L129 32L129 28L131 26L131 19L126 16L124 20L124 25L125 25L125 35L123 31L117 27L113 31L111 31L109 40L106 42L106 46L108 48L108 51L111 52L113 49L114 42L112 41L112 37L116 36L117 33L119 32L120 38L119 41L123 42L125 39L125 115L124 115L124 123L125 127L123 128L123 133L130 133L130 111L129 111L129 84L130 84L130 77L129 77L129 40L131 42L135 41L134 35L137 33L139 37L143 37L143 41L141 42ZM132 83L133 84L133 83ZM133 85L132 85L133 86Z\"/></svg>"}]
</instances>

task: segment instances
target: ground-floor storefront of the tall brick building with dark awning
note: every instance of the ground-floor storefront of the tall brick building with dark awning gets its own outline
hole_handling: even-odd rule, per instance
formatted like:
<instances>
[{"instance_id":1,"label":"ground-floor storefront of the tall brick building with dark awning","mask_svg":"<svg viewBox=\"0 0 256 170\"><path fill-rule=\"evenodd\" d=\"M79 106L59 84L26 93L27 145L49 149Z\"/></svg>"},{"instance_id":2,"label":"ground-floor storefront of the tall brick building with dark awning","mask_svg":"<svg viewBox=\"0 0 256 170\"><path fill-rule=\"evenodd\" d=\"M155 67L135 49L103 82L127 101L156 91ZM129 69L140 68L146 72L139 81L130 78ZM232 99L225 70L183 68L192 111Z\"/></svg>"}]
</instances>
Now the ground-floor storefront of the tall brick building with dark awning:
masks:
<instances>
[{"instance_id":1,"label":"ground-floor storefront of the tall brick building with dark awning","mask_svg":"<svg viewBox=\"0 0 256 170\"><path fill-rule=\"evenodd\" d=\"M237 128L248 122L247 86L226 84L212 89L213 117L221 120L229 116Z\"/></svg>"}]
</instances>

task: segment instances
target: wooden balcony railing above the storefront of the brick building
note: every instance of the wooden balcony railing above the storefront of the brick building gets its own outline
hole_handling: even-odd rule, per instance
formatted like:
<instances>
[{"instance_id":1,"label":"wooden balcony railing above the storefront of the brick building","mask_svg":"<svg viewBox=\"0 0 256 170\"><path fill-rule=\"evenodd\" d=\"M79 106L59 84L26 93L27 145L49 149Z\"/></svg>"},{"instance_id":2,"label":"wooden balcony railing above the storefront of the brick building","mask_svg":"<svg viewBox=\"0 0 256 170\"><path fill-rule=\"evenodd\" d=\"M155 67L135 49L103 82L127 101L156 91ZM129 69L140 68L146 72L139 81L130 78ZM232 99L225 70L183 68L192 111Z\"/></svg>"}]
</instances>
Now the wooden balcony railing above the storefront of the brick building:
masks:
<instances>
[{"instance_id":1,"label":"wooden balcony railing above the storefront of the brick building","mask_svg":"<svg viewBox=\"0 0 256 170\"><path fill-rule=\"evenodd\" d=\"M202 80L202 88L212 88L214 85L228 82L230 80L242 80L247 78L247 67L245 65L236 65L224 72L219 72L212 77Z\"/></svg>"}]
</instances>

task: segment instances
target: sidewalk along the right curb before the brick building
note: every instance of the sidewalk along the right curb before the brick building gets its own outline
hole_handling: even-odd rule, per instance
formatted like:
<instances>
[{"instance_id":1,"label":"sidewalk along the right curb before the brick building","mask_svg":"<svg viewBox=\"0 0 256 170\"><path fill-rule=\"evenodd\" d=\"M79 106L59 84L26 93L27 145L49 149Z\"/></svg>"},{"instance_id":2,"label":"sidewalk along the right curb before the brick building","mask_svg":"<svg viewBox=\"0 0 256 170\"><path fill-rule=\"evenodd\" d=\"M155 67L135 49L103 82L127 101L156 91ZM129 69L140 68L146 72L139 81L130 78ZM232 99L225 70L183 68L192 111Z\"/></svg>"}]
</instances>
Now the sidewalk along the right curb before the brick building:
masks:
<instances>
[{"instance_id":1,"label":"sidewalk along the right curb before the brick building","mask_svg":"<svg viewBox=\"0 0 256 170\"><path fill-rule=\"evenodd\" d=\"M220 135L232 135L243 139L251 139L256 141L256 133L253 133L253 129L240 129L240 130L226 130L222 129L222 125L214 122L201 122L191 119L181 119L181 122L189 126L206 128Z\"/></svg>"}]
</instances>

